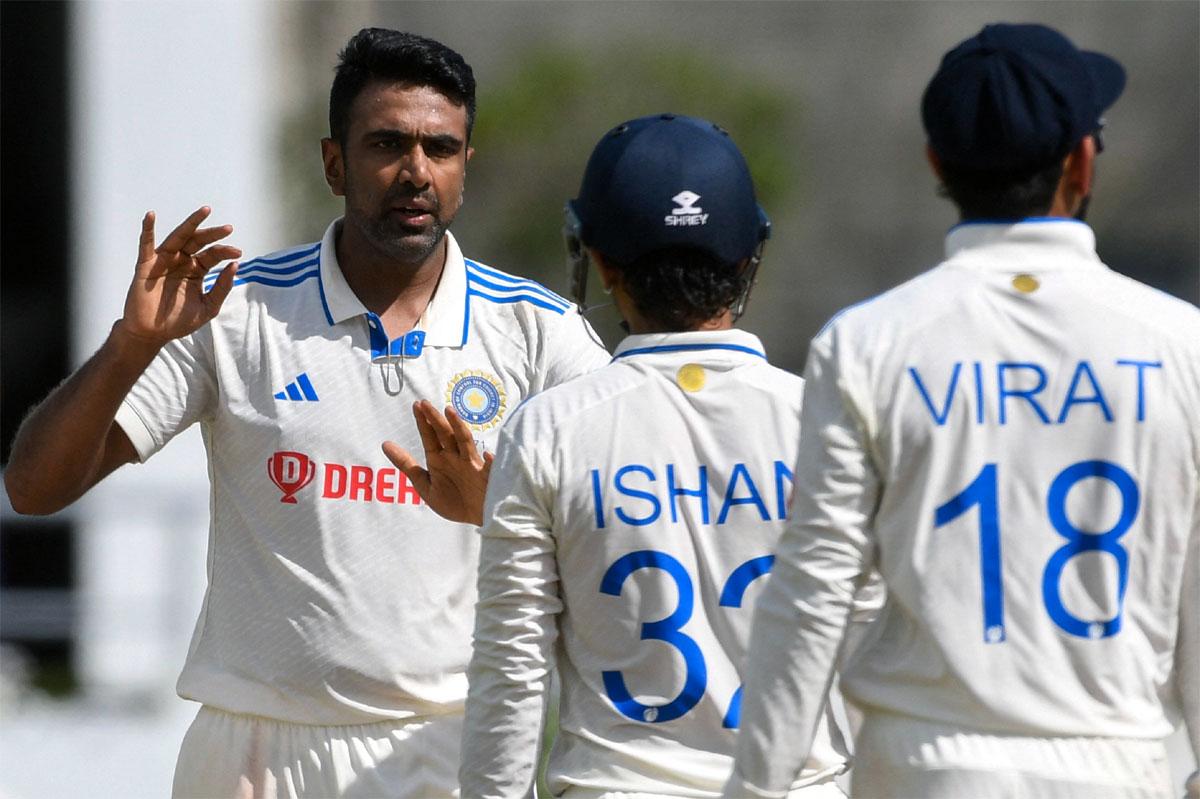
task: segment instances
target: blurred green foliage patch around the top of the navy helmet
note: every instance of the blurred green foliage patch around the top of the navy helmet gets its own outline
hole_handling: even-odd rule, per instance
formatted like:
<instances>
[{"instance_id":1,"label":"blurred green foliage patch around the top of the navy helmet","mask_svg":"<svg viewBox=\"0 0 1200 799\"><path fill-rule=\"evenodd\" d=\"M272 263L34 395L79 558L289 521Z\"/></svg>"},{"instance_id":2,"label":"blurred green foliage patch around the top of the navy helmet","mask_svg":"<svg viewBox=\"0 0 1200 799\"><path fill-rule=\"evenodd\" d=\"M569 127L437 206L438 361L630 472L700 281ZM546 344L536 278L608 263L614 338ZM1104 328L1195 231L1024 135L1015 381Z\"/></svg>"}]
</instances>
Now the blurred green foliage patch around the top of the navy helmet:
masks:
<instances>
[{"instance_id":1,"label":"blurred green foliage patch around the top of the navy helmet","mask_svg":"<svg viewBox=\"0 0 1200 799\"><path fill-rule=\"evenodd\" d=\"M593 145L626 119L661 112L712 119L745 154L760 202L770 205L792 188L782 166L787 134L798 125L796 109L778 92L716 54L650 41L623 48L619 74L612 62L607 54L548 47L523 53L503 82L480 89L480 157L470 173L502 184L504 198L473 222L516 259L514 269L536 274L545 262L562 259L562 239L545 221L562 216Z\"/></svg>"}]
</instances>

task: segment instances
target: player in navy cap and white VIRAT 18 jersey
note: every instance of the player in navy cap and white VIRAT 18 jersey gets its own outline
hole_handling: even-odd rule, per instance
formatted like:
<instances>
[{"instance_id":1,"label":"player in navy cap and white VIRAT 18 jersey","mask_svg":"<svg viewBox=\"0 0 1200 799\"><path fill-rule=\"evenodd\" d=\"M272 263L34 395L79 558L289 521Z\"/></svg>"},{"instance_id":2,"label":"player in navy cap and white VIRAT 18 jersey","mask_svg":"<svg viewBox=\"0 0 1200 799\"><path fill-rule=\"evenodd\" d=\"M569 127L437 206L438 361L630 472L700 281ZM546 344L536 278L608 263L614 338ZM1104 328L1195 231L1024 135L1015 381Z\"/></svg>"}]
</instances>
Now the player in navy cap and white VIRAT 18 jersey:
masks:
<instances>
[{"instance_id":1,"label":"player in navy cap and white VIRAT 18 jersey","mask_svg":"<svg viewBox=\"0 0 1200 799\"><path fill-rule=\"evenodd\" d=\"M1178 795L1163 739L1182 715L1200 743L1200 311L1111 271L1076 218L1123 86L1057 31L989 25L925 90L962 222L944 262L812 342L727 795L787 791L870 566L888 600L841 673L865 710L853 795Z\"/></svg>"}]
</instances>

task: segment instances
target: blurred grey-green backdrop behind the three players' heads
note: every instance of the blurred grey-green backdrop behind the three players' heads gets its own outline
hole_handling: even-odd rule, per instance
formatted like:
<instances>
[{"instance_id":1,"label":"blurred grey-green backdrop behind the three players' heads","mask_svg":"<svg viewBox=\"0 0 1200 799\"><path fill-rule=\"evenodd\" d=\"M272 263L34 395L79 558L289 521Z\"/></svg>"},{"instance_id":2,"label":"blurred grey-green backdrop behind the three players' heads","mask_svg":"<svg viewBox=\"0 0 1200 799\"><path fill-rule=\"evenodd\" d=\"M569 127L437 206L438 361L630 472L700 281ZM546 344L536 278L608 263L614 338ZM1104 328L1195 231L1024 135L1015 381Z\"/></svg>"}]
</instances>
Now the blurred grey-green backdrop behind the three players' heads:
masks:
<instances>
[{"instance_id":1,"label":"blurred grey-green backdrop behind the three players' heads","mask_svg":"<svg viewBox=\"0 0 1200 799\"><path fill-rule=\"evenodd\" d=\"M337 216L318 143L338 49L364 25L431 36L475 71L464 252L565 293L562 209L612 126L674 112L727 128L773 235L743 326L799 372L835 313L932 266L954 209L924 158L919 102L942 53L989 22L1042 22L1110 53L1129 83L1109 113L1088 222L1117 271L1196 301L1200 4L306 2L286 6L280 246ZM595 281L592 281L593 288ZM593 298L592 301L599 301ZM605 342L616 314L589 318Z\"/></svg>"}]
</instances>

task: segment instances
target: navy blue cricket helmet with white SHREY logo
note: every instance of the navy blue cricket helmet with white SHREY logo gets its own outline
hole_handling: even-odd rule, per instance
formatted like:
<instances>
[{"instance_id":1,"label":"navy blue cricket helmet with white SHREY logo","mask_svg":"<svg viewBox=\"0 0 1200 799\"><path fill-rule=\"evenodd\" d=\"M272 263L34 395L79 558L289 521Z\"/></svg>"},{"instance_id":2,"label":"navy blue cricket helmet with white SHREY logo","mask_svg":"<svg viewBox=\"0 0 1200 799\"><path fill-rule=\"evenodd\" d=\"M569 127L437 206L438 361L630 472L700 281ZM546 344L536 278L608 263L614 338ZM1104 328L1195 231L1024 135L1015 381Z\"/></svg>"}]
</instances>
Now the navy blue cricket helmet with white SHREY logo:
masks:
<instances>
[{"instance_id":1,"label":"navy blue cricket helmet with white SHREY logo","mask_svg":"<svg viewBox=\"0 0 1200 799\"><path fill-rule=\"evenodd\" d=\"M618 264L666 247L694 247L734 264L770 230L730 134L676 114L642 116L605 133L568 205L583 244Z\"/></svg>"}]
</instances>

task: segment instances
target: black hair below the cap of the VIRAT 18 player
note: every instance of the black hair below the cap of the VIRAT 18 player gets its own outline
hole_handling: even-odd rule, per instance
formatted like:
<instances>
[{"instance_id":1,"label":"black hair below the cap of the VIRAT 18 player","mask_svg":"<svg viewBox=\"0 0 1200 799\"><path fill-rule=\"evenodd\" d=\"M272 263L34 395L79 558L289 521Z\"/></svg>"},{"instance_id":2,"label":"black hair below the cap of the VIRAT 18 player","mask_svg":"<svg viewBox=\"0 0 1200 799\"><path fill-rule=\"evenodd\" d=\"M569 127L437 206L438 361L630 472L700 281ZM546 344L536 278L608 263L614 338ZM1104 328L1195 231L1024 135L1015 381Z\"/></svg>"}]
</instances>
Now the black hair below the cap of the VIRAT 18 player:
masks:
<instances>
[{"instance_id":1,"label":"black hair below the cap of the VIRAT 18 player","mask_svg":"<svg viewBox=\"0 0 1200 799\"><path fill-rule=\"evenodd\" d=\"M976 172L942 164L942 188L964 220L1045 216L1062 179L1062 161L1021 172Z\"/></svg>"}]
</instances>

